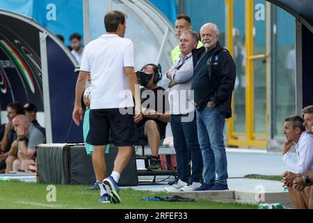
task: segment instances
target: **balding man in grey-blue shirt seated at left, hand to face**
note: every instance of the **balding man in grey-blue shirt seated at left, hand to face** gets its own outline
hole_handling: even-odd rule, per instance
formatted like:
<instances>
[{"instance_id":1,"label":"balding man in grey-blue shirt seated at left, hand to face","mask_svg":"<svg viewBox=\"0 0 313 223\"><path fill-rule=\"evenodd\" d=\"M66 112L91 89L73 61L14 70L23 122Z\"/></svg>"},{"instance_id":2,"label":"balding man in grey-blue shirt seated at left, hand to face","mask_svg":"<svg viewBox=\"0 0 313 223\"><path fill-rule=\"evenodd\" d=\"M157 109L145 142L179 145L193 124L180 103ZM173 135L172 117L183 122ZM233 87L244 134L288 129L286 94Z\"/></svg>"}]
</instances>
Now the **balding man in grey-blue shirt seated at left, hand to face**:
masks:
<instances>
[{"instance_id":1,"label":"balding man in grey-blue shirt seated at left, hand to face","mask_svg":"<svg viewBox=\"0 0 313 223\"><path fill-rule=\"evenodd\" d=\"M39 125L33 125L25 115L16 116L12 123L19 143L18 159L13 162L13 171L27 170L29 165L35 164L36 146L46 141L45 132Z\"/></svg>"}]
</instances>

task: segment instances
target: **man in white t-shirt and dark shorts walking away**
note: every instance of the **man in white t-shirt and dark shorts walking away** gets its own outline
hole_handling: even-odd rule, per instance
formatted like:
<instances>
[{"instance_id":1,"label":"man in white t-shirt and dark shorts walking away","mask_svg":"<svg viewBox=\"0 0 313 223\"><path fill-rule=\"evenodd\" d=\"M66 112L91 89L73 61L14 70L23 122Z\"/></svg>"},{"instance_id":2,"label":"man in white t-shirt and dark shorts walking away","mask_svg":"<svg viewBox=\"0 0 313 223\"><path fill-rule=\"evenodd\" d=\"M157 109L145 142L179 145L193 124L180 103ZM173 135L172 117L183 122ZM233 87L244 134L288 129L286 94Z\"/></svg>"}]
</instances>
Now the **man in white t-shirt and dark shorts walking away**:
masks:
<instances>
[{"instance_id":1,"label":"man in white t-shirt and dark shorts walking away","mask_svg":"<svg viewBox=\"0 0 313 223\"><path fill-rule=\"evenodd\" d=\"M111 11L104 17L107 34L86 45L77 79L73 111L74 122L82 121L81 95L88 74L91 79L90 131L87 142L94 145L93 167L100 182L101 203L120 203L118 180L131 157L132 145L136 143L135 122L141 121L140 91L134 71L134 45L124 38L126 15ZM134 107L134 114L125 114ZM130 109L129 109L130 108ZM104 152L109 144L110 132L118 155L111 176L106 177ZM102 182L102 183L101 183Z\"/></svg>"}]
</instances>

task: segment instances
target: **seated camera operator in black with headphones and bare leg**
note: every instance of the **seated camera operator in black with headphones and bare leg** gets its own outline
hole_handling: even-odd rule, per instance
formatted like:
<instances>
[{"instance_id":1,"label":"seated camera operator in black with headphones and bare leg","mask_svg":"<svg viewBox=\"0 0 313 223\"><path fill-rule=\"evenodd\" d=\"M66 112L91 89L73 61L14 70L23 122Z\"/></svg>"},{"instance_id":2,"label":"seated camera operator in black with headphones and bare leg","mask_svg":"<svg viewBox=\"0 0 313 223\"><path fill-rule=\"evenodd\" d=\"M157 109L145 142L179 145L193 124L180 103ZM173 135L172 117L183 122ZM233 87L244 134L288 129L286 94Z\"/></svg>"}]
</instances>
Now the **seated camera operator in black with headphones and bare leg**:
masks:
<instances>
[{"instance_id":1,"label":"seated camera operator in black with headphones and bare leg","mask_svg":"<svg viewBox=\"0 0 313 223\"><path fill-rule=\"evenodd\" d=\"M151 148L152 157L147 170L158 171L161 170L160 139L165 138L166 125L170 120L168 94L165 89L157 85L161 79L160 68L157 65L149 63L141 69L140 73L142 75L140 84L144 86L141 89L143 119L141 121L135 120L135 122L138 128L138 138L147 139Z\"/></svg>"}]
</instances>

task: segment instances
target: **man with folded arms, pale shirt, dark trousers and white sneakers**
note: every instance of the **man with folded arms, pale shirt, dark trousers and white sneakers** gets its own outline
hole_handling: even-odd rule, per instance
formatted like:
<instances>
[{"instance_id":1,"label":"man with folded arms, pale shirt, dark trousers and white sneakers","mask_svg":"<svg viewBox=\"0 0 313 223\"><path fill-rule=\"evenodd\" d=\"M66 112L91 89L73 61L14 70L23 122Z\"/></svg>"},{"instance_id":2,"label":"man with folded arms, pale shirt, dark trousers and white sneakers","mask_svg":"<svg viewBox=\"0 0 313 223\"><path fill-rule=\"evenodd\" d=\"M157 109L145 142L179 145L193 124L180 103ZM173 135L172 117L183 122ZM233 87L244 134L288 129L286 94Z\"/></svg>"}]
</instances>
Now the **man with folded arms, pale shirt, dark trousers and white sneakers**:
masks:
<instances>
[{"instance_id":1,"label":"man with folded arms, pale shirt, dark trousers and white sneakers","mask_svg":"<svg viewBox=\"0 0 313 223\"><path fill-rule=\"evenodd\" d=\"M192 50L198 45L198 33L184 31L179 38L182 54L167 72L170 79L170 126L177 160L179 180L166 191L192 191L201 186L202 153L198 142L195 107L189 102L189 92L193 78ZM189 176L189 152L191 155L191 176Z\"/></svg>"}]
</instances>

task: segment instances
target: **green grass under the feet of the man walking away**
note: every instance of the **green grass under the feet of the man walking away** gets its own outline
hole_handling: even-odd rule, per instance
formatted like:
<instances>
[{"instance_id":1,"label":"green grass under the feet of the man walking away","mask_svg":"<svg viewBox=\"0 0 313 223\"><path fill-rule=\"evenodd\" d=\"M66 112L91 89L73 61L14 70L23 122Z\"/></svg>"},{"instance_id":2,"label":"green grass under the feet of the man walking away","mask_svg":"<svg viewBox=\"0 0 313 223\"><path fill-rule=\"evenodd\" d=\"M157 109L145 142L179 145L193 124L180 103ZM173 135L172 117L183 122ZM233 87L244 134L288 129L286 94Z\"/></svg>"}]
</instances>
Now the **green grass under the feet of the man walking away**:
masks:
<instances>
[{"instance_id":1,"label":"green grass under the feet of the man walking away","mask_svg":"<svg viewBox=\"0 0 313 223\"><path fill-rule=\"evenodd\" d=\"M168 197L165 192L121 190L122 203L99 203L99 191L86 190L86 185L56 185L56 202L48 202L47 185L0 181L0 208L105 208L105 209L251 209L254 205L196 200L195 202L140 201L142 197Z\"/></svg>"}]
</instances>

